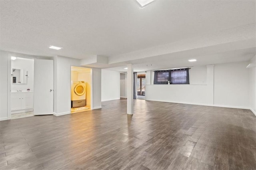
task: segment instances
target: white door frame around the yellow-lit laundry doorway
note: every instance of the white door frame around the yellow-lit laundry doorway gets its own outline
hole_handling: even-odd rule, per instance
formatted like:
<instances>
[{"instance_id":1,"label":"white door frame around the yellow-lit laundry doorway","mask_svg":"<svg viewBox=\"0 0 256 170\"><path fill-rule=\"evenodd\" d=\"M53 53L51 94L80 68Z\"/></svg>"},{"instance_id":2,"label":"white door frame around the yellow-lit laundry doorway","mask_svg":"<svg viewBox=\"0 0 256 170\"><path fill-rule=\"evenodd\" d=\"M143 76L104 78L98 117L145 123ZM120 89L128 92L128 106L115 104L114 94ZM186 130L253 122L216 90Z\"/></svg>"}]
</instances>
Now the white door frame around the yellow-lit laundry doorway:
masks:
<instances>
[{"instance_id":1,"label":"white door frame around the yellow-lit laundry doorway","mask_svg":"<svg viewBox=\"0 0 256 170\"><path fill-rule=\"evenodd\" d=\"M92 67L84 67L84 66L77 66L77 65L70 65L69 67L69 89L70 91L68 91L69 93L69 106L70 106L70 114L71 114L71 67L80 67L80 68L83 68L83 69L91 69L91 110L93 110L94 108L94 104L93 104L93 96L94 96L94 90L93 90L93 78L92 78L92 75L93 75L93 68Z\"/></svg>"}]
</instances>

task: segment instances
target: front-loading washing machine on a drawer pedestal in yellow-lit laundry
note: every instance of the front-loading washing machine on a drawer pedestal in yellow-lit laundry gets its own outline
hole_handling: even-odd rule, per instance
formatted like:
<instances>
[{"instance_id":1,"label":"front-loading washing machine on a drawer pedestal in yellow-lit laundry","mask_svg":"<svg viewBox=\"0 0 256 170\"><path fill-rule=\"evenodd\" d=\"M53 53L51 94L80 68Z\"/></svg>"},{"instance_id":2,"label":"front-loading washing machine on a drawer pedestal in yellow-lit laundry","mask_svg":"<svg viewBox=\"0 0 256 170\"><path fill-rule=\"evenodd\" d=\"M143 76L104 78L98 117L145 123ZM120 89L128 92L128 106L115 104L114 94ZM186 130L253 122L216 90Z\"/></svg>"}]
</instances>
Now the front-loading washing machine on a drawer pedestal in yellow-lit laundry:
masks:
<instances>
[{"instance_id":1,"label":"front-loading washing machine on a drawer pedestal in yellow-lit laundry","mask_svg":"<svg viewBox=\"0 0 256 170\"><path fill-rule=\"evenodd\" d=\"M71 81L71 108L86 105L86 83L84 81Z\"/></svg>"}]
</instances>

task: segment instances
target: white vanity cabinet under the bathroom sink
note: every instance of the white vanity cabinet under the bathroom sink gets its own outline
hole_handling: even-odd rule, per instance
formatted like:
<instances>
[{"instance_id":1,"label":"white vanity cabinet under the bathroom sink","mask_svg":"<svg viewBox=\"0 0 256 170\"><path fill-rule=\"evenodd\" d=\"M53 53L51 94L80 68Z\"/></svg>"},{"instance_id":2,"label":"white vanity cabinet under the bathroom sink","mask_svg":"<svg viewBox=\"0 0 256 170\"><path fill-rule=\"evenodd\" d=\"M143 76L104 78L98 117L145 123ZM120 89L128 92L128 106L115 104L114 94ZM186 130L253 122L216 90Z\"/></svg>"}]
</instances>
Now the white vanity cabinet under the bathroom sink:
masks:
<instances>
[{"instance_id":1,"label":"white vanity cabinet under the bathroom sink","mask_svg":"<svg viewBox=\"0 0 256 170\"><path fill-rule=\"evenodd\" d=\"M12 92L11 113L23 113L33 111L33 92Z\"/></svg>"}]
</instances>

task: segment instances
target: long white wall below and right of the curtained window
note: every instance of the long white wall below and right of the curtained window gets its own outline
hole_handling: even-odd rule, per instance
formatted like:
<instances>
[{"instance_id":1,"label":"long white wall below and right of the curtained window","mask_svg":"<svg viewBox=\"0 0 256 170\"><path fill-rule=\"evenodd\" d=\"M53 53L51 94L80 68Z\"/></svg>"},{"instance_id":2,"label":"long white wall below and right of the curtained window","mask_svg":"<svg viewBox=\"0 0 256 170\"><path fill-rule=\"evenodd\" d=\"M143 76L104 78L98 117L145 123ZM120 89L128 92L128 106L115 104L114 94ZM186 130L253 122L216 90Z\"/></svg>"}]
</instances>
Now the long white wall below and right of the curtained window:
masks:
<instances>
[{"instance_id":1,"label":"long white wall below and right of the curtained window","mask_svg":"<svg viewBox=\"0 0 256 170\"><path fill-rule=\"evenodd\" d=\"M237 62L193 67L191 81L202 85L146 85L146 100L249 109L247 65Z\"/></svg>"}]
</instances>

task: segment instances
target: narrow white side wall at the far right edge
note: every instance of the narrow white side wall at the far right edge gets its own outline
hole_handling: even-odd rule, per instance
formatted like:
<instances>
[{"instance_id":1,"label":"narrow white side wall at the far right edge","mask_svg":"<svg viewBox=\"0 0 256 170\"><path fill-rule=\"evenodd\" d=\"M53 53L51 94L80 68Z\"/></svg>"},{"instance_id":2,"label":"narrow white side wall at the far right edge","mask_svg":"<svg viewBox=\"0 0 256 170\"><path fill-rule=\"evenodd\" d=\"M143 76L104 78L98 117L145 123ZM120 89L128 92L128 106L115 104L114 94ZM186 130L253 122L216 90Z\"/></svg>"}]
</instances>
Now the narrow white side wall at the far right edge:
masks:
<instances>
[{"instance_id":1,"label":"narrow white side wall at the far right edge","mask_svg":"<svg viewBox=\"0 0 256 170\"><path fill-rule=\"evenodd\" d=\"M256 65L256 55L251 59L250 63ZM256 67L250 68L250 88L249 88L250 109L256 116Z\"/></svg>"}]
</instances>

